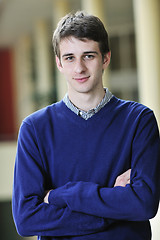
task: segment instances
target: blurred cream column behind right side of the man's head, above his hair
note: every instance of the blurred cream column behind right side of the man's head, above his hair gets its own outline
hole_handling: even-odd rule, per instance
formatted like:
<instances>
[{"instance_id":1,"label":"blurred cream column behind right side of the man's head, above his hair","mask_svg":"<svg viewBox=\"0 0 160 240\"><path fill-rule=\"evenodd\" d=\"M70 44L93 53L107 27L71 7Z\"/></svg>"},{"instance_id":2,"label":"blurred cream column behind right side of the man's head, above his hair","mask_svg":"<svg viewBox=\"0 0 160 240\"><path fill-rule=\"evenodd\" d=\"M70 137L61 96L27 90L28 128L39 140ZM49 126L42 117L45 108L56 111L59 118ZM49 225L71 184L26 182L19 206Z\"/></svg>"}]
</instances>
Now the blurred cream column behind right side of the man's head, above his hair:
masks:
<instances>
[{"instance_id":1,"label":"blurred cream column behind right side of the man's head, above his hair","mask_svg":"<svg viewBox=\"0 0 160 240\"><path fill-rule=\"evenodd\" d=\"M82 10L100 18L106 27L105 6L103 0L81 0ZM107 28L106 28L107 30ZM109 87L109 70L106 69L103 74L103 85Z\"/></svg>"}]
</instances>

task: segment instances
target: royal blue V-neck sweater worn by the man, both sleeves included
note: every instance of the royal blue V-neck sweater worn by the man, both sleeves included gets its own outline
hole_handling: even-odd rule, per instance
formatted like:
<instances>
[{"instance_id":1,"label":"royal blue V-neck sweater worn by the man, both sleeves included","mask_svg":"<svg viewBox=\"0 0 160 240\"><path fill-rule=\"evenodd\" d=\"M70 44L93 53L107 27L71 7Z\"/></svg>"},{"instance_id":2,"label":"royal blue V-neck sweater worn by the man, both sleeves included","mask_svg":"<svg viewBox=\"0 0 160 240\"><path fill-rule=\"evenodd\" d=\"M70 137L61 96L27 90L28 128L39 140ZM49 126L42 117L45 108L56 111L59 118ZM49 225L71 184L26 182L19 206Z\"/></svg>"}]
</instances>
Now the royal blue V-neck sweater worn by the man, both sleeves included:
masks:
<instances>
[{"instance_id":1,"label":"royal blue V-neck sweater worn by the man, both sleeves included","mask_svg":"<svg viewBox=\"0 0 160 240\"><path fill-rule=\"evenodd\" d=\"M131 183L113 187L129 168ZM21 125L12 208L22 236L150 240L159 190L157 123L141 104L113 97L86 121L61 101Z\"/></svg>"}]
</instances>

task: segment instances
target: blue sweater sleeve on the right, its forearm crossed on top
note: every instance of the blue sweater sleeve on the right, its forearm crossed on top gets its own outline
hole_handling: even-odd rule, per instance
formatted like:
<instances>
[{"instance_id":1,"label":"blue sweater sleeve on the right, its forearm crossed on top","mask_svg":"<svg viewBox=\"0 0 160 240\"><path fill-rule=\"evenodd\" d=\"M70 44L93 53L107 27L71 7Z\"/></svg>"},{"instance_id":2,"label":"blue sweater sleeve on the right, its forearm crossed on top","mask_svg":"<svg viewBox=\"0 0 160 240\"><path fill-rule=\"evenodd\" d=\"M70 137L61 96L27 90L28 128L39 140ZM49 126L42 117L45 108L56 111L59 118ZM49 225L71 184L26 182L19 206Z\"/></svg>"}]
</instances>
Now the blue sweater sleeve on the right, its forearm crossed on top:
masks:
<instances>
[{"instance_id":1,"label":"blue sweater sleeve on the right, its forearm crossed on top","mask_svg":"<svg viewBox=\"0 0 160 240\"><path fill-rule=\"evenodd\" d=\"M49 202L108 219L146 221L154 217L160 192L160 140L151 111L141 117L135 130L131 168L131 183L126 187L69 182L51 191Z\"/></svg>"}]
</instances>

